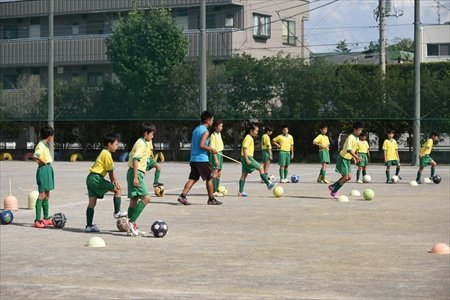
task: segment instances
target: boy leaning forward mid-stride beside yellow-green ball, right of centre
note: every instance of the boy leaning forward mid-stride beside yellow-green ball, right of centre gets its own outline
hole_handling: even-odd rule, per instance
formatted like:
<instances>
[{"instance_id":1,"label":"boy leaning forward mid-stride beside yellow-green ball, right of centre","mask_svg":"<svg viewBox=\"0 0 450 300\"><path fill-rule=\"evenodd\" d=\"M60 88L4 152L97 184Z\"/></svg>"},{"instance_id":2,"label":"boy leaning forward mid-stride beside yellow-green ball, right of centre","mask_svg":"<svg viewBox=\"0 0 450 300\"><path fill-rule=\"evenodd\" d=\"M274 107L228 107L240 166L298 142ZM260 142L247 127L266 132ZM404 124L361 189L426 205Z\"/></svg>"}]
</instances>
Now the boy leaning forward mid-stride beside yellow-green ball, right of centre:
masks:
<instances>
[{"instance_id":1,"label":"boy leaning forward mid-stride beside yellow-green ball, right of centre","mask_svg":"<svg viewBox=\"0 0 450 300\"><path fill-rule=\"evenodd\" d=\"M328 186L330 195L337 199L339 198L338 190L347 182L352 179L351 165L352 160L360 162L362 159L356 154L358 149L358 137L363 130L363 123L355 122L353 124L353 133L350 134L345 140L342 150L339 152L336 159L336 172L341 174L341 178L333 184Z\"/></svg>"}]
</instances>

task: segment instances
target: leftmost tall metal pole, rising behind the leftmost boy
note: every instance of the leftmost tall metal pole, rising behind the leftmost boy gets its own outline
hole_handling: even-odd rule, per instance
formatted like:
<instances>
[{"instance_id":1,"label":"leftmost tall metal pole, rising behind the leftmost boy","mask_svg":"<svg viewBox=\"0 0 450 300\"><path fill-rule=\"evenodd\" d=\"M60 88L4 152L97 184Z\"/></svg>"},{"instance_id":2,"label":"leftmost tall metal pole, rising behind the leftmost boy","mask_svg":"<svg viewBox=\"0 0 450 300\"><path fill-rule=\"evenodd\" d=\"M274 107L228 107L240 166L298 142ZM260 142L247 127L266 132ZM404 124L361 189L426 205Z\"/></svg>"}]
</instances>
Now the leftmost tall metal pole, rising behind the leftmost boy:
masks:
<instances>
[{"instance_id":1,"label":"leftmost tall metal pole, rising behind the leftmost boy","mask_svg":"<svg viewBox=\"0 0 450 300\"><path fill-rule=\"evenodd\" d=\"M53 58L54 58L54 49L53 49L53 8L54 8L54 0L48 0L48 86L47 86L47 94L48 94L48 125L55 128L54 124L54 102L53 102ZM49 150L52 157L55 157L55 146L54 142L51 141L49 143Z\"/></svg>"}]
</instances>

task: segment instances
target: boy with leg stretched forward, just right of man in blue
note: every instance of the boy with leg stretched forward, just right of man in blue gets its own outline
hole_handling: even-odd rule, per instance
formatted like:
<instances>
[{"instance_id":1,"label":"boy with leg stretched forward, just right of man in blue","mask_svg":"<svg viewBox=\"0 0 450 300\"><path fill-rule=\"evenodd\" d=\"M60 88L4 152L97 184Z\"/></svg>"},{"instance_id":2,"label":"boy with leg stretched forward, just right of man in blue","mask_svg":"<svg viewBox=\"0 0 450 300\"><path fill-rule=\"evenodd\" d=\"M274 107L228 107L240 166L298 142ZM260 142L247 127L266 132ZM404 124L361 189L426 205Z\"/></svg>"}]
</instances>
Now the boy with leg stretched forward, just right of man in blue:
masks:
<instances>
[{"instance_id":1,"label":"boy with leg stretched forward, just right of man in blue","mask_svg":"<svg viewBox=\"0 0 450 300\"><path fill-rule=\"evenodd\" d=\"M248 194L244 192L245 179L247 175L252 173L255 170L258 170L259 176L267 185L267 188L271 190L275 183L270 182L267 178L267 174L264 173L263 168L259 165L259 163L253 158L253 154L255 152L255 144L253 138L258 135L259 127L255 124L251 124L248 129L248 133L242 142L242 150L241 150L241 164L242 164L242 175L241 179L239 179L239 197L247 197Z\"/></svg>"}]
</instances>

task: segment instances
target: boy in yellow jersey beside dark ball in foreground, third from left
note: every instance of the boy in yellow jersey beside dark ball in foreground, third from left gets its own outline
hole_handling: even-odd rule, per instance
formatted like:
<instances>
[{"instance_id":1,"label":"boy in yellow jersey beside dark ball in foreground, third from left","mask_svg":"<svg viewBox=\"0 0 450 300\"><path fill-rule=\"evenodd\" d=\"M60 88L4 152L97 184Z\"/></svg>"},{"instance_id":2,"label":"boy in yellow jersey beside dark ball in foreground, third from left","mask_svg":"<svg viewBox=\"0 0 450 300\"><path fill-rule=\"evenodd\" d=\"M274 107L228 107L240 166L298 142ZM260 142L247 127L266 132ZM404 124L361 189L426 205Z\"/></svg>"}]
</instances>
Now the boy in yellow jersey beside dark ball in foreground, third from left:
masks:
<instances>
[{"instance_id":1,"label":"boy in yellow jersey beside dark ball in foreground, third from left","mask_svg":"<svg viewBox=\"0 0 450 300\"><path fill-rule=\"evenodd\" d=\"M155 131L155 125L142 123L140 129L142 137L134 143L128 158L127 184L128 198L130 198L128 228L129 233L135 236L139 235L136 220L151 200L144 176L151 153L150 141L153 139ZM141 201L138 202L139 199Z\"/></svg>"}]
</instances>

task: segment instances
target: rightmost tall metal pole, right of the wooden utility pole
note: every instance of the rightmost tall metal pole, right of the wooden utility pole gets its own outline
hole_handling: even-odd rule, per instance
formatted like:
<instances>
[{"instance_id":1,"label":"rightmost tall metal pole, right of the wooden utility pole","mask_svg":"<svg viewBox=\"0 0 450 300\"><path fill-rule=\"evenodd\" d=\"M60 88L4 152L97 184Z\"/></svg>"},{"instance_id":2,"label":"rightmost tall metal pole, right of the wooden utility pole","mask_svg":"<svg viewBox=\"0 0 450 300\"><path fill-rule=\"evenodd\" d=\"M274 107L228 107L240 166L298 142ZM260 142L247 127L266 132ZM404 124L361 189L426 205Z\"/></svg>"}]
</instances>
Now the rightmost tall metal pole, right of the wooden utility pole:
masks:
<instances>
[{"instance_id":1,"label":"rightmost tall metal pole, right of the wooden utility pole","mask_svg":"<svg viewBox=\"0 0 450 300\"><path fill-rule=\"evenodd\" d=\"M414 124L411 165L419 164L420 149L420 62L422 60L422 36L420 24L420 0L414 0Z\"/></svg>"}]
</instances>

